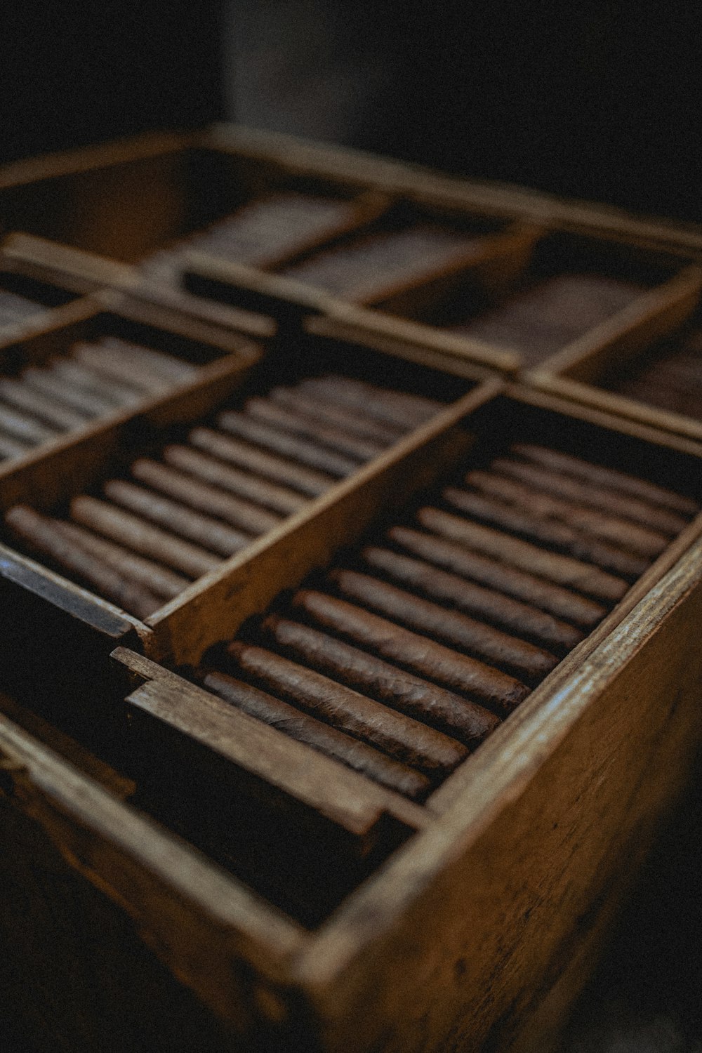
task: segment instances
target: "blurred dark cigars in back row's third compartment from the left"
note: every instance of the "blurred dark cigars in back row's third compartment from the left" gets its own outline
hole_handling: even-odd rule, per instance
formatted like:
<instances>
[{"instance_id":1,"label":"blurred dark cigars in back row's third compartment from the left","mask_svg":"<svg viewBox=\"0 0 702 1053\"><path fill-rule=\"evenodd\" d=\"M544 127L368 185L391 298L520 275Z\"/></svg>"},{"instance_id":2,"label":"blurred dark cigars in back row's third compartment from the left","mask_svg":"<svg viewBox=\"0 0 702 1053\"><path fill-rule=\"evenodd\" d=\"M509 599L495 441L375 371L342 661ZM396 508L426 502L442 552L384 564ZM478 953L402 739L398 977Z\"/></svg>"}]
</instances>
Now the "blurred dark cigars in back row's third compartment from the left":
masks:
<instances>
[{"instance_id":1,"label":"blurred dark cigars in back row's third compartment from the left","mask_svg":"<svg viewBox=\"0 0 702 1053\"><path fill-rule=\"evenodd\" d=\"M517 351L533 365L606 321L644 286L594 274L563 274L527 285L452 330Z\"/></svg>"}]
</instances>

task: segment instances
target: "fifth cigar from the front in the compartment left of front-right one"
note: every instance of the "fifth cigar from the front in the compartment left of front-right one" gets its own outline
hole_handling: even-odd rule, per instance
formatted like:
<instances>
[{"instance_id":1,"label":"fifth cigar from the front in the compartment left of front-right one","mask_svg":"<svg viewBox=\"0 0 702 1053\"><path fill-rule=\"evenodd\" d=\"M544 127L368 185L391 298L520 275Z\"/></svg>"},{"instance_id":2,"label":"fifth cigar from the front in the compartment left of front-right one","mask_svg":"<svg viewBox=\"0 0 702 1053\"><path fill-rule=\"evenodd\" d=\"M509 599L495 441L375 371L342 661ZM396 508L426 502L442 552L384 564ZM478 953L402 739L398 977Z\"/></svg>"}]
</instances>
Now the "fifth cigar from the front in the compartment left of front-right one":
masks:
<instances>
[{"instance_id":1,"label":"fifth cigar from the front in the compartment left of front-right one","mask_svg":"<svg viewBox=\"0 0 702 1053\"><path fill-rule=\"evenodd\" d=\"M176 472L166 464L140 458L132 464L132 475L155 490L176 497L198 512L209 513L233 526L240 526L247 534L264 534L281 521L281 516L260 504L241 497L233 497L216 486L198 482L183 472Z\"/></svg>"}]
</instances>

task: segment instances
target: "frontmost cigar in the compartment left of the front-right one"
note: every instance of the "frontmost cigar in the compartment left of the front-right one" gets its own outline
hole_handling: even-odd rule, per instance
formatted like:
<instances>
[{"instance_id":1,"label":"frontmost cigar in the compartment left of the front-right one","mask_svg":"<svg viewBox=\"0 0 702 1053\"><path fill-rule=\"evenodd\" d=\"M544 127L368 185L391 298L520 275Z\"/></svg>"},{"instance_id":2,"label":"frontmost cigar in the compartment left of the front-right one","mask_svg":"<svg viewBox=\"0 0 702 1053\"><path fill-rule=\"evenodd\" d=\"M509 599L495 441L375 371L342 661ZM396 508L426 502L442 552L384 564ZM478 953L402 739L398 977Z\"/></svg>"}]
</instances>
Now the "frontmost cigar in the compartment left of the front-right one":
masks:
<instances>
[{"instance_id":1,"label":"frontmost cigar in the compartment left of the front-right one","mask_svg":"<svg viewBox=\"0 0 702 1053\"><path fill-rule=\"evenodd\" d=\"M146 618L161 605L160 599L148 590L125 580L112 567L65 537L57 530L57 520L40 516L26 505L16 504L7 512L5 521L33 549L138 618Z\"/></svg>"}]
</instances>

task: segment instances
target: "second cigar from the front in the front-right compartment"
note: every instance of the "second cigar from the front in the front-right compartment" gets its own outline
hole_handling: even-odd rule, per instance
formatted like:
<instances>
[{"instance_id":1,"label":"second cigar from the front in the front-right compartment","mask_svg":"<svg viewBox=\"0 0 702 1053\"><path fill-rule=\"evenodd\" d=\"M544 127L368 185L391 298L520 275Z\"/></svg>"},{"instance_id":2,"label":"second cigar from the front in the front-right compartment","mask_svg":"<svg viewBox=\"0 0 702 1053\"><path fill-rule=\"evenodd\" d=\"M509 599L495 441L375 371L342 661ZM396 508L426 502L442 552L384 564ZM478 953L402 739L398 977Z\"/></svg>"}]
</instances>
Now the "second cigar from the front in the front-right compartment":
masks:
<instances>
[{"instance_id":1,"label":"second cigar from the front in the front-right compartment","mask_svg":"<svg viewBox=\"0 0 702 1053\"><path fill-rule=\"evenodd\" d=\"M226 650L247 677L267 690L280 692L334 728L419 769L433 780L445 778L468 755L461 742L443 732L427 728L404 713L396 713L272 651L239 640L229 643Z\"/></svg>"}]
</instances>

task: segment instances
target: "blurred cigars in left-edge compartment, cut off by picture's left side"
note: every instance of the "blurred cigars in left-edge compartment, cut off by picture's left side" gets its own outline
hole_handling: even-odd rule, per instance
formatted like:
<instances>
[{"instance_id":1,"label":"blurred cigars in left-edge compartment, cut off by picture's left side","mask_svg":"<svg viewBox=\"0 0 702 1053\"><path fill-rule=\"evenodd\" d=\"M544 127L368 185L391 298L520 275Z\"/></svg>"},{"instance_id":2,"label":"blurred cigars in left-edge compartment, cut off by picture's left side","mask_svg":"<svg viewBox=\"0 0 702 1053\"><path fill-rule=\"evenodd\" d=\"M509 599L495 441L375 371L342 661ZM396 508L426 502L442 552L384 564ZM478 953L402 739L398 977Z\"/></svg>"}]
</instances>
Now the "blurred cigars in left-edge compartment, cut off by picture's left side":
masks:
<instances>
[{"instance_id":1,"label":"blurred cigars in left-edge compartment, cut off by picture's left side","mask_svg":"<svg viewBox=\"0 0 702 1053\"><path fill-rule=\"evenodd\" d=\"M0 457L27 450L96 418L162 394L197 366L117 337L73 344L17 377L0 377Z\"/></svg>"}]
</instances>

